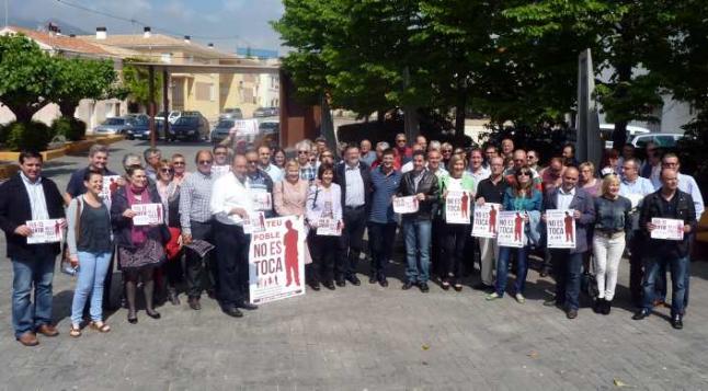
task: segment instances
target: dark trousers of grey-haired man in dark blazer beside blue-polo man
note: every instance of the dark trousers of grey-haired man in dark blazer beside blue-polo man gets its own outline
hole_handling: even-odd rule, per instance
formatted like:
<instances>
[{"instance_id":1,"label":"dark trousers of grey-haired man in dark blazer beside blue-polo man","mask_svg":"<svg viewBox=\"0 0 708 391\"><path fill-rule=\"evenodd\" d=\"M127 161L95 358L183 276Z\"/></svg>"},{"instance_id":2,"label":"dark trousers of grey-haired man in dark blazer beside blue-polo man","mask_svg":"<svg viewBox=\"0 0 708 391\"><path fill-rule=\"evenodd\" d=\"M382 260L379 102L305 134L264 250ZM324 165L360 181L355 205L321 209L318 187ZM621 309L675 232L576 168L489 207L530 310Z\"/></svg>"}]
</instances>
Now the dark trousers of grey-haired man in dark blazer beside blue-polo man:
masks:
<instances>
[{"instance_id":1,"label":"dark trousers of grey-haired man in dark blazer beside blue-polo man","mask_svg":"<svg viewBox=\"0 0 708 391\"><path fill-rule=\"evenodd\" d=\"M336 257L336 278L344 279L356 274L356 265L364 244L364 229L366 229L366 207L344 207L344 229L339 242L339 256Z\"/></svg>"}]
</instances>

